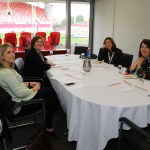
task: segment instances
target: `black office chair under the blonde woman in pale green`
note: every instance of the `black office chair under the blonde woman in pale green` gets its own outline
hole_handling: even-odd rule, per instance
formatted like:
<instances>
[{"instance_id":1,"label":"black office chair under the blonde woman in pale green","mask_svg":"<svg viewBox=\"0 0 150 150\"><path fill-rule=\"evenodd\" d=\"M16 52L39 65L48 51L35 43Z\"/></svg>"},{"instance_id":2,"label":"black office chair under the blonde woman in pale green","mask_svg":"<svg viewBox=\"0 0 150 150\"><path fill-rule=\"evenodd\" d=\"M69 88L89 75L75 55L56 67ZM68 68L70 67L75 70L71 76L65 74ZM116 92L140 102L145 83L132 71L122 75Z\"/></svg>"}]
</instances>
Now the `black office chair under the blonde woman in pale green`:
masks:
<instances>
[{"instance_id":1,"label":"black office chair under the blonde woman in pale green","mask_svg":"<svg viewBox=\"0 0 150 150\"><path fill-rule=\"evenodd\" d=\"M25 105L40 105L41 109L27 113L26 115L13 115L13 110L25 106ZM41 118L39 118L41 116ZM39 120L41 119L41 120ZM8 145L12 142L11 130L14 128L24 127L26 125L33 125L36 129L35 134L45 128L45 107L44 100L42 99L32 99L29 101L22 101L16 103L11 100L11 96L0 86L0 120L2 120L3 130L1 133L1 139L3 139L4 150L7 149ZM21 138L22 136L20 136ZM30 142L30 140L28 141ZM25 148L28 144L21 146L20 148ZM11 145L11 149L13 149ZM17 148L19 149L19 148Z\"/></svg>"}]
</instances>

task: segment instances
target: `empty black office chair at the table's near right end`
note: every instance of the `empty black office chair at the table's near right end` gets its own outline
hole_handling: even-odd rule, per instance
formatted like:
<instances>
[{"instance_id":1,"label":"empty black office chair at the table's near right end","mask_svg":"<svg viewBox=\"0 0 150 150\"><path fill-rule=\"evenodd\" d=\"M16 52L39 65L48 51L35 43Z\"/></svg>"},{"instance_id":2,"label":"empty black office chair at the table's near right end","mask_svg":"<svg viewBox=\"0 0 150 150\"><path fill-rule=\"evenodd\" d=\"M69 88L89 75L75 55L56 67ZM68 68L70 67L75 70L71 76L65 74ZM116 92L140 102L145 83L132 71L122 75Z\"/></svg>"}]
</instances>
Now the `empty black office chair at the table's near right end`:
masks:
<instances>
[{"instance_id":1,"label":"empty black office chair at the table's near right end","mask_svg":"<svg viewBox=\"0 0 150 150\"><path fill-rule=\"evenodd\" d=\"M140 128L129 119L122 117L119 130L118 150L121 150L121 142L124 139L134 150L150 150L150 125ZM123 130L123 124L131 127L130 130Z\"/></svg>"}]
</instances>

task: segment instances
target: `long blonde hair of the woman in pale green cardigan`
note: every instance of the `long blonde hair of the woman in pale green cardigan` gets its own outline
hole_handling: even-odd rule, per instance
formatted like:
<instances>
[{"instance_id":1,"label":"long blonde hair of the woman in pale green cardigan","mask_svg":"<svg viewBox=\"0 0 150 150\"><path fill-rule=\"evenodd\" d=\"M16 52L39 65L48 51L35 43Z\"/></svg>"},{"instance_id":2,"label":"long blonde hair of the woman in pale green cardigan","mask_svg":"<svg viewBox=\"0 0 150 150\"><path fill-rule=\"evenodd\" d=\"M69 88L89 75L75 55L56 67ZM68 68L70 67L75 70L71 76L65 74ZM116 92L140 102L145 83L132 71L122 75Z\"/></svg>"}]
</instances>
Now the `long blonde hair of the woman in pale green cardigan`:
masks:
<instances>
[{"instance_id":1,"label":"long blonde hair of the woman in pale green cardigan","mask_svg":"<svg viewBox=\"0 0 150 150\"><path fill-rule=\"evenodd\" d=\"M5 44L1 44L1 45L0 45L0 68L6 68L6 67L4 66L4 62L3 62L3 54L4 54L4 52L6 51L6 49L7 49L8 47L13 48L13 46L12 46L10 43L5 43ZM14 48L13 48L13 49L14 49ZM10 68L11 68L11 69L14 69L14 63L12 63L12 64L10 65Z\"/></svg>"}]
</instances>

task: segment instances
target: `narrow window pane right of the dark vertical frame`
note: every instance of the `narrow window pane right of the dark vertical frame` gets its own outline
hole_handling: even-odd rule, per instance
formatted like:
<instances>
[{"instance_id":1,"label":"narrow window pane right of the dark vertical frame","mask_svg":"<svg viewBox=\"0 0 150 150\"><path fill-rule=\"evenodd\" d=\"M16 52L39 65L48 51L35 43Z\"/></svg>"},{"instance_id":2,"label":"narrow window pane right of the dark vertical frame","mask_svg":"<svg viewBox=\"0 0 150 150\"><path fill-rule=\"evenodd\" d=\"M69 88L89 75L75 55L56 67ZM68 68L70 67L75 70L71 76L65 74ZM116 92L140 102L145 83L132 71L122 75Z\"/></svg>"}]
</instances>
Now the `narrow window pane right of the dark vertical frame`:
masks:
<instances>
[{"instance_id":1,"label":"narrow window pane right of the dark vertical frame","mask_svg":"<svg viewBox=\"0 0 150 150\"><path fill-rule=\"evenodd\" d=\"M71 3L71 44L85 45L89 43L90 3Z\"/></svg>"}]
</instances>

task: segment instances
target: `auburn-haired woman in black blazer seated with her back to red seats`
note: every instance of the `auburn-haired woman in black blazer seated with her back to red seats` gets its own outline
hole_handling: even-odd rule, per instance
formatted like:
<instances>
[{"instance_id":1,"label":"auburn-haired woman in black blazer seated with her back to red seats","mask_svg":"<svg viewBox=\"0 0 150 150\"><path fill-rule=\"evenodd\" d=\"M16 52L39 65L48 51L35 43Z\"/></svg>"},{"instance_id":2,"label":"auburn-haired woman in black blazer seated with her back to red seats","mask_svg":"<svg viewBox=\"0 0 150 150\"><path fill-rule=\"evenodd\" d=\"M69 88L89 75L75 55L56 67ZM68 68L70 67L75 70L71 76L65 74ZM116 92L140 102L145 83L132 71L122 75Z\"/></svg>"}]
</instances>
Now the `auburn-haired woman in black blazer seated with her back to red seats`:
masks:
<instances>
[{"instance_id":1,"label":"auburn-haired woman in black blazer seated with her back to red seats","mask_svg":"<svg viewBox=\"0 0 150 150\"><path fill-rule=\"evenodd\" d=\"M31 50L28 52L22 75L24 77L40 77L44 80L44 86L49 87L51 83L46 75L46 70L49 70L52 62L49 62L41 53L44 46L44 40L41 36L35 36L31 40Z\"/></svg>"}]
</instances>

